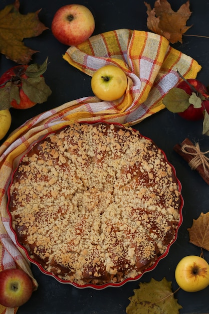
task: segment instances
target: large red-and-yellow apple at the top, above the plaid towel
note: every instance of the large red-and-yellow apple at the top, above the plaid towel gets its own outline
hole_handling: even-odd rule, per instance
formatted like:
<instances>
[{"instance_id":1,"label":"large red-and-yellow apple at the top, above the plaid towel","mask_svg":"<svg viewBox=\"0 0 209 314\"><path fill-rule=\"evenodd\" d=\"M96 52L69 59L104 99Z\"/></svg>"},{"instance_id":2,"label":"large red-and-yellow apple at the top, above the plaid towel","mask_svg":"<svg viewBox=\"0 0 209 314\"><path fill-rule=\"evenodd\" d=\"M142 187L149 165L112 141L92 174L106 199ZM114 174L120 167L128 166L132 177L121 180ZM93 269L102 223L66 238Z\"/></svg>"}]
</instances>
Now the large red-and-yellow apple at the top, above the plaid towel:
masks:
<instances>
[{"instance_id":1,"label":"large red-and-yellow apple at the top, above the plaid towel","mask_svg":"<svg viewBox=\"0 0 209 314\"><path fill-rule=\"evenodd\" d=\"M95 21L91 11L82 5L61 7L52 21L52 33L64 45L77 46L94 32Z\"/></svg>"}]
</instances>

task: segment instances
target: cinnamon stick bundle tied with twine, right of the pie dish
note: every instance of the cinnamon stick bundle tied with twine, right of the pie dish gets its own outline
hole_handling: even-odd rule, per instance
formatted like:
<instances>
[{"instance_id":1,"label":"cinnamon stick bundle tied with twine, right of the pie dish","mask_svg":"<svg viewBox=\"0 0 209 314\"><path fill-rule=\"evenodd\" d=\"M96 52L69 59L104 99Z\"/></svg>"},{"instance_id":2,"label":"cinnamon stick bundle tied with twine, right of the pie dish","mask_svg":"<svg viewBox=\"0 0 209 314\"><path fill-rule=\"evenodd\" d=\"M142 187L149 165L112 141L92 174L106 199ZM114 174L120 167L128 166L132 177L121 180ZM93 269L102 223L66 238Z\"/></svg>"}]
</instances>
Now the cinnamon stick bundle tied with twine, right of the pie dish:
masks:
<instances>
[{"instance_id":1,"label":"cinnamon stick bundle tied with twine, right of the pie dish","mask_svg":"<svg viewBox=\"0 0 209 314\"><path fill-rule=\"evenodd\" d=\"M209 151L201 152L198 143L194 145L188 138L185 138L180 144L176 144L173 149L209 185L209 158L205 155Z\"/></svg>"}]
</instances>

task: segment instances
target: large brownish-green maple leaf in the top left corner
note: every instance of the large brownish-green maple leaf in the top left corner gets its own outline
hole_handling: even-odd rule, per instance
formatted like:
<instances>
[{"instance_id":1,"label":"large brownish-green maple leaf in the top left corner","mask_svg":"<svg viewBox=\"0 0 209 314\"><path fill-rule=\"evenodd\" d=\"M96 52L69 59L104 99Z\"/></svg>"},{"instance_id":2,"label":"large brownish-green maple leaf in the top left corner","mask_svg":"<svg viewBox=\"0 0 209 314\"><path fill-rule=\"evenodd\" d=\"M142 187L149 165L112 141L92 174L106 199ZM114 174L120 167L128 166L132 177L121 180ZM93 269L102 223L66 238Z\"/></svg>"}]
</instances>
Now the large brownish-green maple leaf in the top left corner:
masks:
<instances>
[{"instance_id":1,"label":"large brownish-green maple leaf in the top left corner","mask_svg":"<svg viewBox=\"0 0 209 314\"><path fill-rule=\"evenodd\" d=\"M19 0L0 11L0 52L19 64L28 64L36 50L26 47L24 38L40 35L48 28L39 21L37 11L22 15Z\"/></svg>"}]
</instances>

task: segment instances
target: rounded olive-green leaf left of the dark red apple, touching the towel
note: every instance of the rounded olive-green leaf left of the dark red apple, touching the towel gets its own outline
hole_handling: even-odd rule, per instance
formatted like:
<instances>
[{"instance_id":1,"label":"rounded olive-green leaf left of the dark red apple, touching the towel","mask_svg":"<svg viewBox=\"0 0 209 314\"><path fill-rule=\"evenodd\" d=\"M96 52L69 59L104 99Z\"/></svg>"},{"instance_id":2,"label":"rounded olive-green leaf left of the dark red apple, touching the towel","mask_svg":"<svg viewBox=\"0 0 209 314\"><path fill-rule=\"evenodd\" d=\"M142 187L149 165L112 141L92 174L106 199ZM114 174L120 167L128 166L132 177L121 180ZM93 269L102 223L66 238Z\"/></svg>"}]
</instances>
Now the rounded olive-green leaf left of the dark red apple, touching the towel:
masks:
<instances>
[{"instance_id":1,"label":"rounded olive-green leaf left of the dark red apple, touching the towel","mask_svg":"<svg viewBox=\"0 0 209 314\"><path fill-rule=\"evenodd\" d=\"M183 89L176 87L168 91L162 102L169 111L177 113L185 111L190 106L189 98L190 95Z\"/></svg>"}]
</instances>

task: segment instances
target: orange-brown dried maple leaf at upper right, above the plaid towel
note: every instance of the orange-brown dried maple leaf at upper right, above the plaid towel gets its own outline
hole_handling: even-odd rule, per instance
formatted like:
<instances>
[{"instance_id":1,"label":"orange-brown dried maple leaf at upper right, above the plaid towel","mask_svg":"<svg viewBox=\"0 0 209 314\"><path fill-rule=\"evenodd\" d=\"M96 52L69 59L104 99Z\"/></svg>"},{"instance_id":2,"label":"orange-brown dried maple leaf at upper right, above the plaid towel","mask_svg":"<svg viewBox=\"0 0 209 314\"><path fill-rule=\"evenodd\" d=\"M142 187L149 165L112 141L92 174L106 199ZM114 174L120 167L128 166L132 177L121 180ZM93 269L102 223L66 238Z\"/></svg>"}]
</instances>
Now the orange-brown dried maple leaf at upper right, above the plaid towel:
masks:
<instances>
[{"instance_id":1,"label":"orange-brown dried maple leaf at upper right, above the plaid towel","mask_svg":"<svg viewBox=\"0 0 209 314\"><path fill-rule=\"evenodd\" d=\"M171 44L182 43L182 34L191 26L186 26L191 12L189 10L189 1L183 4L177 12L171 9L167 0L157 0L154 8L144 3L147 7L147 27L150 31L167 38Z\"/></svg>"}]
</instances>

